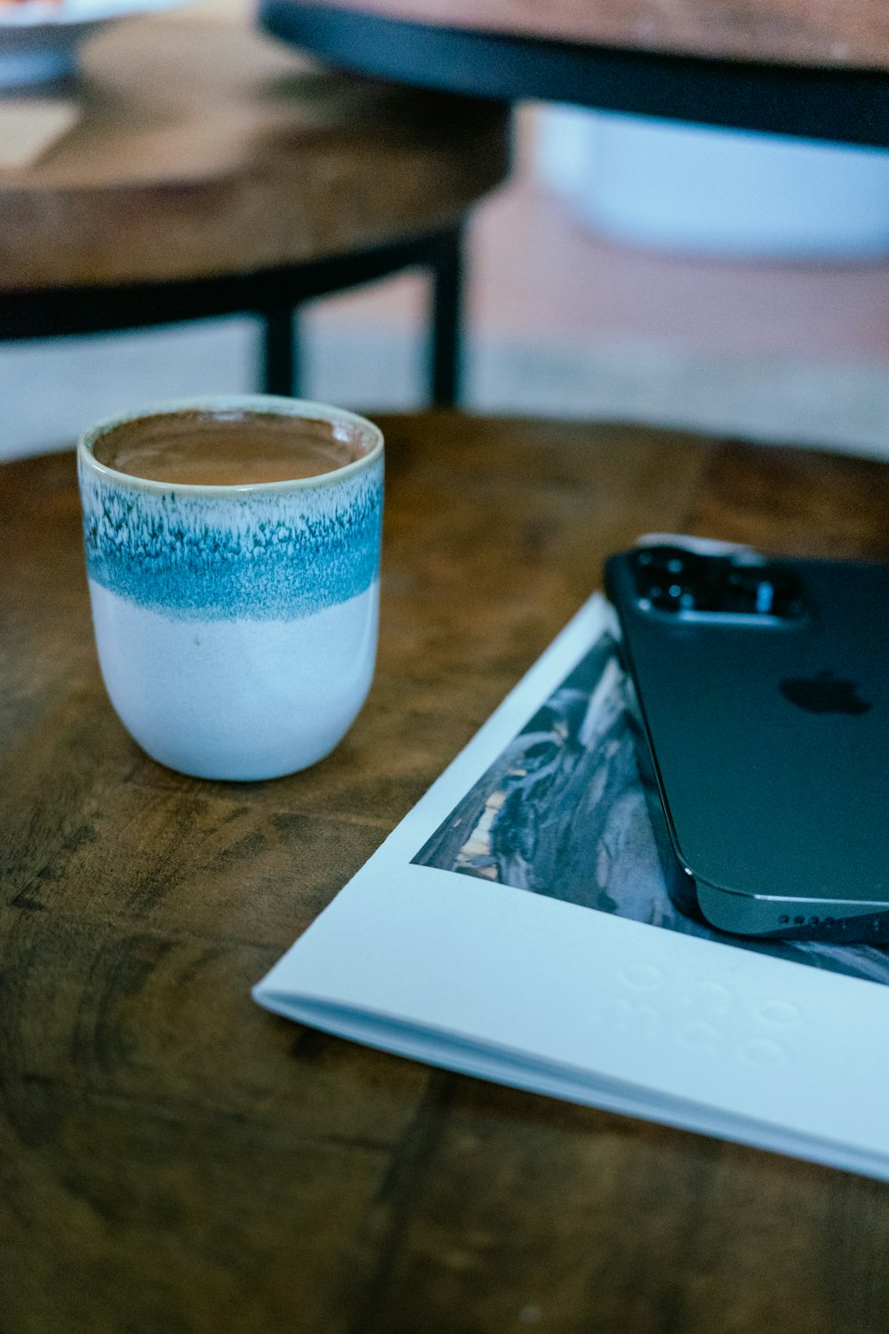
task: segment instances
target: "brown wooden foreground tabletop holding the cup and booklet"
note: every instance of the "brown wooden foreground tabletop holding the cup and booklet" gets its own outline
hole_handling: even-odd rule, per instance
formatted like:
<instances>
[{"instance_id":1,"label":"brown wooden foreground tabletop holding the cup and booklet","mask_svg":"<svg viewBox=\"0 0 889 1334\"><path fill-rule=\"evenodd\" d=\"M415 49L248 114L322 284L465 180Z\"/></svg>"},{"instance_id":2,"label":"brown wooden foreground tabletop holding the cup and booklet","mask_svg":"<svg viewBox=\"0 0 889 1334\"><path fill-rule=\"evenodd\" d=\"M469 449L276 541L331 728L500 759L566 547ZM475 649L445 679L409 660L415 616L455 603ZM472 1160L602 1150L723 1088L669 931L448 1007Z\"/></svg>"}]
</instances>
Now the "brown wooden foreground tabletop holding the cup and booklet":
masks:
<instances>
[{"instance_id":1,"label":"brown wooden foreground tabletop holding the cup and booklet","mask_svg":"<svg viewBox=\"0 0 889 1334\"><path fill-rule=\"evenodd\" d=\"M0 468L4 1334L882 1334L889 1187L435 1073L249 987L642 530L889 558L889 467L393 418L371 699L316 768L147 759L69 454ZM874 1053L884 1059L884 1053Z\"/></svg>"}]
</instances>

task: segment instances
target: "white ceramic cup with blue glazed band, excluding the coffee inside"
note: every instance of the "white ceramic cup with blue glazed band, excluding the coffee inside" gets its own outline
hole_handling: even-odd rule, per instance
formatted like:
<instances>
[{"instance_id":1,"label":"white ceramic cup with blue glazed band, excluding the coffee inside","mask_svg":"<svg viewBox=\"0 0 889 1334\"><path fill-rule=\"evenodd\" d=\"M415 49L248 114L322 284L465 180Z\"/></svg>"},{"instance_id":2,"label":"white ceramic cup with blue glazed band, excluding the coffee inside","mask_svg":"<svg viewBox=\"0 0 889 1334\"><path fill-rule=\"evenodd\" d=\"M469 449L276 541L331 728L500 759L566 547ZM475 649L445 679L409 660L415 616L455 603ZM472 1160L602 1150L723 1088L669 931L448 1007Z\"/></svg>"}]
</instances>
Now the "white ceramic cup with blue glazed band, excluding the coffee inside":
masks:
<instances>
[{"instance_id":1,"label":"white ceramic cup with blue glazed band, excluding the coffee inside","mask_svg":"<svg viewBox=\"0 0 889 1334\"><path fill-rule=\"evenodd\" d=\"M183 411L329 422L367 452L249 486L149 482L96 459L115 427ZM237 780L292 774L333 750L376 656L377 427L296 399L191 399L95 426L77 468L99 662L139 744L184 774Z\"/></svg>"}]
</instances>

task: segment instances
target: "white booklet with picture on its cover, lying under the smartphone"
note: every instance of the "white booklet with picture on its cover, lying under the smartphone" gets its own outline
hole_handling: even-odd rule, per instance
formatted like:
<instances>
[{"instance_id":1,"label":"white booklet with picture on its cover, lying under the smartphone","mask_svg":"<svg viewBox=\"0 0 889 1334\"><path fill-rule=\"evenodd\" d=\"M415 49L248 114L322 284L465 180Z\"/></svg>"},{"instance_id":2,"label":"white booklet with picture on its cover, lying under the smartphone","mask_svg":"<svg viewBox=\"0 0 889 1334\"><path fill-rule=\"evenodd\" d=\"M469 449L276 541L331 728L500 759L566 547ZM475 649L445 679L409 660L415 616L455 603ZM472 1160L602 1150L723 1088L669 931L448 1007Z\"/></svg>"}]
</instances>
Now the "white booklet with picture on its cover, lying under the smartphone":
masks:
<instances>
[{"instance_id":1,"label":"white booklet with picture on its cover, lying under the smartphone","mask_svg":"<svg viewBox=\"0 0 889 1334\"><path fill-rule=\"evenodd\" d=\"M889 1179L889 950L753 944L661 874L592 598L255 987L292 1019Z\"/></svg>"}]
</instances>

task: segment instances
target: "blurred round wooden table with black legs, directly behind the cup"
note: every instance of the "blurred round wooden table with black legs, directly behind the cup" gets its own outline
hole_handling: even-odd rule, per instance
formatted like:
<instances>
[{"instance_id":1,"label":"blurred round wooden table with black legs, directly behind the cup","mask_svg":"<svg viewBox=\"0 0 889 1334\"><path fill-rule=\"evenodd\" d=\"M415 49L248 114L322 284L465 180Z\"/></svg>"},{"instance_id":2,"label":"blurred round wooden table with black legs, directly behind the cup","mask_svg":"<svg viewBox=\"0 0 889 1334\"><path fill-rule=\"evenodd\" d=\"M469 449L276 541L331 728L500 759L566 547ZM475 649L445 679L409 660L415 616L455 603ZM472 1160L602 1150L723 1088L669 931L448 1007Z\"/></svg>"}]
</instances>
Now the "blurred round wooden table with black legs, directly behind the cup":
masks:
<instances>
[{"instance_id":1,"label":"blurred round wooden table with black legs, directly behind the cup","mask_svg":"<svg viewBox=\"0 0 889 1334\"><path fill-rule=\"evenodd\" d=\"M299 305L421 265L429 398L456 399L461 232L508 172L504 105L161 17L95 39L68 96L76 125L0 169L0 339L249 312L261 390L299 394Z\"/></svg>"}]
</instances>

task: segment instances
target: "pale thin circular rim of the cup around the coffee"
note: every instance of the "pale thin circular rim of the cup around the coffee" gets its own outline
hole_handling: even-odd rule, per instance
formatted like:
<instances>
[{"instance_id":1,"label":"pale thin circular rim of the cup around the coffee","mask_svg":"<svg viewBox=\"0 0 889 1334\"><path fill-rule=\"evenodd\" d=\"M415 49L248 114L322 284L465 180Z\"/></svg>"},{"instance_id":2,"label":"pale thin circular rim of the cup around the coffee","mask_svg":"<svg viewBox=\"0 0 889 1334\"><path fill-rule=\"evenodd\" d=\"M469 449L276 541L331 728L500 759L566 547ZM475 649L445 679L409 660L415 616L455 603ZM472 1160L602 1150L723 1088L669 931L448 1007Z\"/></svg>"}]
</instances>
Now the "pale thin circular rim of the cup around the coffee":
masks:
<instances>
[{"instance_id":1,"label":"pale thin circular rim of the cup around the coffee","mask_svg":"<svg viewBox=\"0 0 889 1334\"><path fill-rule=\"evenodd\" d=\"M345 463L341 468L333 468L331 472L316 472L311 478L292 478L287 482L244 482L235 484L157 482L151 478L137 478L132 472L123 472L120 468L112 468L109 464L101 463L93 454L93 446L100 436L108 435L128 422L139 422L141 418L164 416L165 414L189 410L200 412L209 408L219 408L221 411L227 408L243 408L245 412L272 412L279 416L321 418L344 422L367 431L373 444L360 459L353 459L352 463ZM355 476L380 459L383 456L383 431L379 426L369 422L368 418L360 416L357 412L349 412L348 408L339 408L331 403L316 403L313 399L291 399L275 394L204 394L195 395L193 398L165 399L160 403L149 403L128 412L119 412L115 416L104 418L83 432L77 440L77 456L99 476L108 478L116 483L124 483L137 491L155 495L169 495L171 491L175 491L177 495L203 496L205 499L211 496L237 499L244 495L287 495L291 491L313 491L319 487L333 486L347 478Z\"/></svg>"}]
</instances>

